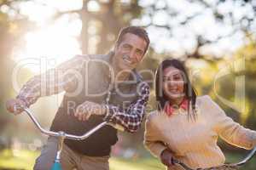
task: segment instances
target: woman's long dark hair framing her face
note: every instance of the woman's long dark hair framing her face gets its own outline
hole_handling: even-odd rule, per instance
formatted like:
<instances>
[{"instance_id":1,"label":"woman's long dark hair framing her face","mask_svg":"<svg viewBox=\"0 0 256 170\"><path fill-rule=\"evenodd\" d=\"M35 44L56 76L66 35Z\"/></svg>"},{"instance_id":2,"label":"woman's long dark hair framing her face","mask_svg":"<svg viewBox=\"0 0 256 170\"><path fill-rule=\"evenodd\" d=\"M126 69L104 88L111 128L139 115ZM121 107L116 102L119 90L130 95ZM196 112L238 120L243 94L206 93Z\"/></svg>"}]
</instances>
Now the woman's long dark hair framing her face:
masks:
<instances>
[{"instance_id":1,"label":"woman's long dark hair framing her face","mask_svg":"<svg viewBox=\"0 0 256 170\"><path fill-rule=\"evenodd\" d=\"M163 60L156 71L154 85L155 85L155 97L157 101L157 110L162 111L165 108L165 105L167 104L167 102L169 101L168 97L163 91L162 83L163 83L163 71L167 67L171 67L171 66L183 73L183 79L185 82L184 83L185 98L189 100L188 117L193 116L195 118L195 101L196 101L195 88L193 88L189 80L188 72L186 71L185 66L181 61L177 59ZM192 108L192 113L190 111L190 108Z\"/></svg>"}]
</instances>

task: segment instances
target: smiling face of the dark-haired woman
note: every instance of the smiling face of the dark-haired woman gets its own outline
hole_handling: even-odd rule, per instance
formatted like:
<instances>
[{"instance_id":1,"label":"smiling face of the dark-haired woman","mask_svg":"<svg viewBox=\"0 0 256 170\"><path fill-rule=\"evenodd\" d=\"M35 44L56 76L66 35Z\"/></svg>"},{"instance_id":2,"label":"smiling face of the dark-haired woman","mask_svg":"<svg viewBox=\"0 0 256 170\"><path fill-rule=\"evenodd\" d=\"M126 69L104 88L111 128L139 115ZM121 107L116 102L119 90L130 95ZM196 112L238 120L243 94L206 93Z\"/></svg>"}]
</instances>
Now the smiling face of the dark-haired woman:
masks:
<instances>
[{"instance_id":1,"label":"smiling face of the dark-haired woman","mask_svg":"<svg viewBox=\"0 0 256 170\"><path fill-rule=\"evenodd\" d=\"M163 71L163 90L169 99L182 98L185 95L183 77L183 71L172 66Z\"/></svg>"}]
</instances>

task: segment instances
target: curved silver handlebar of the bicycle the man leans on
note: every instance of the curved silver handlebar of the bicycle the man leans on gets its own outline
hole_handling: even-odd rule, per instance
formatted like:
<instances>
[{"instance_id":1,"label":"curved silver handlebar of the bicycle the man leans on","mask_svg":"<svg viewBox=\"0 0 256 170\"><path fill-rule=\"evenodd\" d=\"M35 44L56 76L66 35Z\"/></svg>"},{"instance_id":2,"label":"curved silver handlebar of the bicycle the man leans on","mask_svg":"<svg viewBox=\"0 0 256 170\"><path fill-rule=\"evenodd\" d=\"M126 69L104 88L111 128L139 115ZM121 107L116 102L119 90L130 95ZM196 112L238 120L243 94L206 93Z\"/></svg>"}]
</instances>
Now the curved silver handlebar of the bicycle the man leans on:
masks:
<instances>
[{"instance_id":1,"label":"curved silver handlebar of the bicycle the man leans on","mask_svg":"<svg viewBox=\"0 0 256 170\"><path fill-rule=\"evenodd\" d=\"M92 133L95 133L97 130L99 130L100 128L109 125L112 127L115 127L117 129L119 129L120 131L124 131L124 127L118 126L118 125L113 125L110 122L102 122L100 124L98 124L96 127L93 127L92 129L90 129L90 131L88 131L87 133L84 133L81 136L78 135L73 135L73 134L68 134L68 133L63 133L63 132L53 132L53 131L49 131L49 130L45 130L40 123L38 122L38 120L35 118L35 116L33 116L32 112L28 109L28 108L23 108L23 110L26 112L26 114L32 119L32 122L36 125L36 127L38 127L38 129L40 130L41 133L44 133L46 135L49 136L65 136L65 138L67 139L74 139L74 140L84 140L87 139Z\"/></svg>"}]
</instances>

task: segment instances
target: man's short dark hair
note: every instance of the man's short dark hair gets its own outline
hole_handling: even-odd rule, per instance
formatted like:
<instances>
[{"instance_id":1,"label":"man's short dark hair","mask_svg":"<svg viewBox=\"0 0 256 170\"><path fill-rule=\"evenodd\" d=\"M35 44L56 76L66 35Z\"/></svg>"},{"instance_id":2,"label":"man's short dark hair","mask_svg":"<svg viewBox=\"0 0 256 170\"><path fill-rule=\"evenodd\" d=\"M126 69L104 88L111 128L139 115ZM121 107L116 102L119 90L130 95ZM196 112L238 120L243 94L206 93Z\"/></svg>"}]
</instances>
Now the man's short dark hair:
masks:
<instances>
[{"instance_id":1,"label":"man's short dark hair","mask_svg":"<svg viewBox=\"0 0 256 170\"><path fill-rule=\"evenodd\" d=\"M148 32L141 26L127 26L123 28L121 31L119 31L119 37L117 38L116 45L119 46L119 44L123 41L123 37L126 33L131 33L134 35L137 35L137 37L141 37L147 42L147 46L144 50L144 54L148 50L148 45L150 43Z\"/></svg>"}]
</instances>

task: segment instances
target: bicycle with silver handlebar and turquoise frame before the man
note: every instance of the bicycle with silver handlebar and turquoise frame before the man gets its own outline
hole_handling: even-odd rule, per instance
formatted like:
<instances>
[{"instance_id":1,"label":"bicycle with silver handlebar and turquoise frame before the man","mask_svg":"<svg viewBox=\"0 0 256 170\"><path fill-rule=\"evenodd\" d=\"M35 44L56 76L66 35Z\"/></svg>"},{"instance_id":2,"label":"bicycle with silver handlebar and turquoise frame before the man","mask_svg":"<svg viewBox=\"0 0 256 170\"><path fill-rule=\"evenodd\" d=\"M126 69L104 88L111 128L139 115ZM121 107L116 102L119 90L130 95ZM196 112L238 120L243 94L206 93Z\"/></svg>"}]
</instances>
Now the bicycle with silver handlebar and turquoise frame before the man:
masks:
<instances>
[{"instance_id":1,"label":"bicycle with silver handlebar and turquoise frame before the man","mask_svg":"<svg viewBox=\"0 0 256 170\"><path fill-rule=\"evenodd\" d=\"M49 130L44 129L39 124L38 120L33 116L32 112L28 108L23 108L23 110L32 119L32 122L35 124L36 127L38 127L38 130L41 133L44 133L48 136L54 136L54 137L58 138L58 150L57 150L57 154L55 156L54 164L52 165L50 170L62 170L62 168L61 168L61 150L62 150L62 145L63 145L64 139L84 140L84 139L87 139L88 137L90 137L90 135L95 133L97 130L99 130L102 127L107 126L107 125L115 127L120 131L124 131L124 127L121 127L118 124L113 124L113 123L110 123L110 122L102 122L102 123L98 124L96 127L90 129L90 131L88 131L87 133L84 133L81 136L64 133L62 131L53 132L53 131L49 131Z\"/></svg>"}]
</instances>

